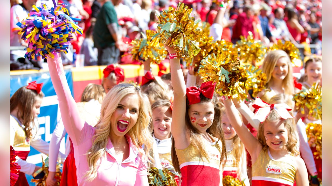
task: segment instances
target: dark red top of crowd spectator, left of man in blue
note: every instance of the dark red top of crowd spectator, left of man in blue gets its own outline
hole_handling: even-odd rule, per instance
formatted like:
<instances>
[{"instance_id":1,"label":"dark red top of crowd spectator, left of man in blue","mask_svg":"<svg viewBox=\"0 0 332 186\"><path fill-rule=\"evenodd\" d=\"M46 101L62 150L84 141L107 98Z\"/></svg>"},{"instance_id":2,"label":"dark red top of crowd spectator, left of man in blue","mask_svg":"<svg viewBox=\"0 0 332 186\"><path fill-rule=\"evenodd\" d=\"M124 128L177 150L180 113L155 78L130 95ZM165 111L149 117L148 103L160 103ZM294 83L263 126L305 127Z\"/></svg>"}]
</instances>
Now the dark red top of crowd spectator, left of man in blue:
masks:
<instances>
[{"instance_id":1,"label":"dark red top of crowd spectator, left of man in blue","mask_svg":"<svg viewBox=\"0 0 332 186\"><path fill-rule=\"evenodd\" d=\"M253 18L248 18L246 13L239 14L236 19L236 23L233 26L232 39L240 39L240 35L247 37L249 35L249 31L253 33L253 36L255 38Z\"/></svg>"}]
</instances>

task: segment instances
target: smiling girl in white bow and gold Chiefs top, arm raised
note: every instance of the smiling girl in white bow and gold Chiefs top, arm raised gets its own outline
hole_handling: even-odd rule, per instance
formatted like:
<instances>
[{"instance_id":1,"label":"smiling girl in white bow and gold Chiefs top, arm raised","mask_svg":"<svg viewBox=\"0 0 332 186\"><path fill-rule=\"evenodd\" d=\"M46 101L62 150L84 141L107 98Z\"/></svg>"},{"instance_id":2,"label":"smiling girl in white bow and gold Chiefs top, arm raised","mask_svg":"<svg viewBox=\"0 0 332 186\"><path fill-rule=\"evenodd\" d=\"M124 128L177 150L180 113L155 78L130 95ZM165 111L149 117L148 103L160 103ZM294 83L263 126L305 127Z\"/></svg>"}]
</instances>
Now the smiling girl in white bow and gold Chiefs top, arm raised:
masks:
<instances>
[{"instance_id":1,"label":"smiling girl in white bow and gold Chiefs top, arm raised","mask_svg":"<svg viewBox=\"0 0 332 186\"><path fill-rule=\"evenodd\" d=\"M223 97L228 119L252 158L252 185L308 186L303 160L297 156L293 116L286 104L266 104L257 98L253 118L261 121L256 139L241 122L230 97Z\"/></svg>"}]
</instances>

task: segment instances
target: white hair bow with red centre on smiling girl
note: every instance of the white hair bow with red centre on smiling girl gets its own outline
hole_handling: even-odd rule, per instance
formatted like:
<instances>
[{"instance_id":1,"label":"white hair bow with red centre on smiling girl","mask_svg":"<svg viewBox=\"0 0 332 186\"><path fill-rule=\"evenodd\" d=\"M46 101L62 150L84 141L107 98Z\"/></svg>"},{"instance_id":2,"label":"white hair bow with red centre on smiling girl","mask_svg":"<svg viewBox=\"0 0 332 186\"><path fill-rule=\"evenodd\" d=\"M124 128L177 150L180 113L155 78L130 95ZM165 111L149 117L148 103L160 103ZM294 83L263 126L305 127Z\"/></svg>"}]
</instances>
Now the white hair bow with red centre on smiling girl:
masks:
<instances>
[{"instance_id":1,"label":"white hair bow with red centre on smiling girl","mask_svg":"<svg viewBox=\"0 0 332 186\"><path fill-rule=\"evenodd\" d=\"M263 122L270 114L271 110L276 110L278 115L283 118L294 118L290 115L288 111L291 111L291 108L285 103L278 103L278 104L268 104L261 100L260 98L256 98L255 102L252 105L253 108L258 109L252 119L258 119L259 121Z\"/></svg>"}]
</instances>

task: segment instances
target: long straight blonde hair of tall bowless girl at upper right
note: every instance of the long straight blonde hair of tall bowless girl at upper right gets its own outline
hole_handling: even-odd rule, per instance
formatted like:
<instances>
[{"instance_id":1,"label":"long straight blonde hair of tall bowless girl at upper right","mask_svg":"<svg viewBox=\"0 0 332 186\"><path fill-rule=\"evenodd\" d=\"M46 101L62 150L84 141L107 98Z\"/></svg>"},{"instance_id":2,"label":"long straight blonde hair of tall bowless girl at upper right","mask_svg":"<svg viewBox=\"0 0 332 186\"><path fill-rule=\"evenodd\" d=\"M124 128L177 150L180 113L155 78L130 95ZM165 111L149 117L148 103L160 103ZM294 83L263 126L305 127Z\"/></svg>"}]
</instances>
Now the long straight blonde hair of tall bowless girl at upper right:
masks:
<instances>
[{"instance_id":1,"label":"long straight blonde hair of tall bowless girl at upper right","mask_svg":"<svg viewBox=\"0 0 332 186\"><path fill-rule=\"evenodd\" d=\"M271 85L273 84L272 72L276 67L277 62L280 58L286 58L288 65L288 73L285 79L283 80L283 88L285 89L286 94L293 95L294 94L293 75L292 75L293 68L290 62L289 55L283 50L274 50L269 52L263 61L262 71L267 76L266 88L270 88Z\"/></svg>"}]
</instances>

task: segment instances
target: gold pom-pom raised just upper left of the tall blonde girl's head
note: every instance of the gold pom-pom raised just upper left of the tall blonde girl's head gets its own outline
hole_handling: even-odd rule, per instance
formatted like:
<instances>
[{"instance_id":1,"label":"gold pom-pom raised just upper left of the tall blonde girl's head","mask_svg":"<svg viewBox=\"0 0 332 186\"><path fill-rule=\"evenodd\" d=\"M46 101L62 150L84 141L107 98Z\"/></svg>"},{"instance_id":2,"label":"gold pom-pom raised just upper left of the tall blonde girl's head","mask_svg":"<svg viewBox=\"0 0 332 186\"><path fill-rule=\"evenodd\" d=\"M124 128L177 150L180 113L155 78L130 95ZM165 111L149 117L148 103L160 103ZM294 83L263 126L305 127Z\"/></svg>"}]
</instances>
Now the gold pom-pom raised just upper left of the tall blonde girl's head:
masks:
<instances>
[{"instance_id":1,"label":"gold pom-pom raised just upper left of the tall blonde girl's head","mask_svg":"<svg viewBox=\"0 0 332 186\"><path fill-rule=\"evenodd\" d=\"M252 32L249 32L247 38L240 36L241 40L236 42L239 59L242 64L254 65L263 61L267 47L263 45L261 40L255 40Z\"/></svg>"}]
</instances>

